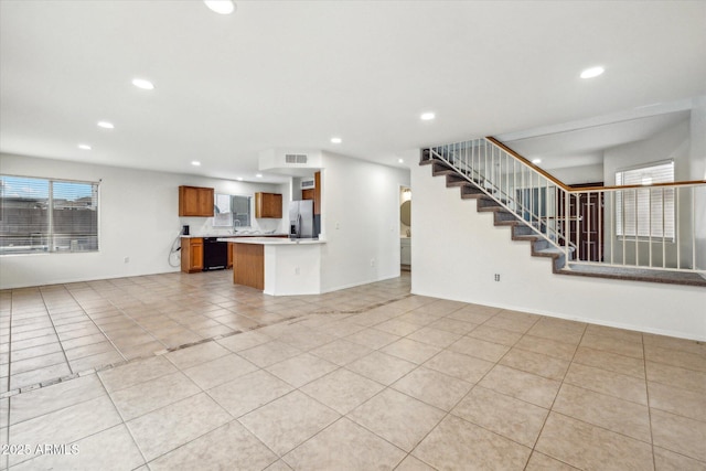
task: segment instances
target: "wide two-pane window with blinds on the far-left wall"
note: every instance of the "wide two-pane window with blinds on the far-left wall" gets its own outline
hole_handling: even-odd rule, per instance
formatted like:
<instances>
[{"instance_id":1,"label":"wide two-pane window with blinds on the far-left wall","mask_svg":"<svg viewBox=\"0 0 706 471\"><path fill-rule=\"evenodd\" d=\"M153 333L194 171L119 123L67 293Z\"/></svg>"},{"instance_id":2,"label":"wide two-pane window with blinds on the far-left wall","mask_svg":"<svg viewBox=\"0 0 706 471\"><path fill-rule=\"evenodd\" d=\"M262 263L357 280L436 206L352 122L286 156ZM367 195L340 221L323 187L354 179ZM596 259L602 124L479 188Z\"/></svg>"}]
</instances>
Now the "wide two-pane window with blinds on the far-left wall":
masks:
<instances>
[{"instance_id":1,"label":"wide two-pane window with blinds on the far-left wall","mask_svg":"<svg viewBox=\"0 0 706 471\"><path fill-rule=\"evenodd\" d=\"M98 250L98 183L0 175L0 254Z\"/></svg>"}]
</instances>

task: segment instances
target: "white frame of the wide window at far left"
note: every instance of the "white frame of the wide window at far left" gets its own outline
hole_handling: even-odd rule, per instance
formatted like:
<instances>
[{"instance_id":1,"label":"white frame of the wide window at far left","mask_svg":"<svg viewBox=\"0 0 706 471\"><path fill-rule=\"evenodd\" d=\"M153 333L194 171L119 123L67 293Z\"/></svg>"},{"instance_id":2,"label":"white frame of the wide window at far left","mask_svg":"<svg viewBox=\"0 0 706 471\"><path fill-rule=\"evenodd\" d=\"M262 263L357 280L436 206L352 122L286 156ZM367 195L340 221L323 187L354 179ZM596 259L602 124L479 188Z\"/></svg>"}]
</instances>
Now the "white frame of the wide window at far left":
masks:
<instances>
[{"instance_id":1,"label":"white frame of the wide window at far left","mask_svg":"<svg viewBox=\"0 0 706 471\"><path fill-rule=\"evenodd\" d=\"M100 251L100 239L101 239L101 236L100 236L100 213L101 213L100 183L101 181L100 180L88 181L88 180L72 180L72 179L51 178L51 176L47 178L47 176L31 176L31 175L0 173L0 180L2 181L2 185L0 185L1 186L0 188L0 223L4 222L4 217L7 216L6 212L8 211L8 207L6 207L7 202L6 202L6 194L4 194L8 179L20 180L20 181L25 180L28 181L28 185L32 184L30 181L35 181L33 184L38 184L36 182L40 182L39 184L41 185L46 184L46 199L42 200L42 203L45 202L46 204L46 216L45 216L46 231L44 233L41 233L41 237L46 239L46 244L40 244L39 248L32 248L32 246L29 246L25 248L18 248L18 249L12 249L13 246L11 245L8 245L6 247L4 245L0 244L0 257L8 256L8 255L38 255L38 254L95 254ZM56 197L56 194L55 194L56 190L54 185L57 183L60 185L77 184L77 185L90 186L90 195L88 196L90 199L89 211L96 212L95 233L90 231L90 234L82 234L81 236L87 237L87 238L94 238L95 244L88 243L82 247L78 243L74 244L74 240L77 240L79 238L78 235L76 235L77 236L76 239L72 239L72 236L74 236L75 234L57 232L58 224L55 222L56 215L54 214L54 212L61 208L61 207L57 207L56 202L64 200L61 197ZM87 196L78 196L78 194L76 194L75 200L68 200L68 201L75 202L83 197L87 197ZM68 205L67 207L72 207L72 205ZM74 205L73 207L77 208L78 206ZM30 224L26 224L26 227L31 228ZM12 237L12 235L8 235L8 236ZM65 237L65 236L68 236L69 238L68 245L65 245L65 244L60 245L56 243L58 238ZM23 236L19 235L15 237L23 237ZM31 235L28 236L28 238L31 238ZM86 245L89 248L85 248ZM94 246L95 248L93 248ZM24 247L24 246L20 245L19 247Z\"/></svg>"}]
</instances>

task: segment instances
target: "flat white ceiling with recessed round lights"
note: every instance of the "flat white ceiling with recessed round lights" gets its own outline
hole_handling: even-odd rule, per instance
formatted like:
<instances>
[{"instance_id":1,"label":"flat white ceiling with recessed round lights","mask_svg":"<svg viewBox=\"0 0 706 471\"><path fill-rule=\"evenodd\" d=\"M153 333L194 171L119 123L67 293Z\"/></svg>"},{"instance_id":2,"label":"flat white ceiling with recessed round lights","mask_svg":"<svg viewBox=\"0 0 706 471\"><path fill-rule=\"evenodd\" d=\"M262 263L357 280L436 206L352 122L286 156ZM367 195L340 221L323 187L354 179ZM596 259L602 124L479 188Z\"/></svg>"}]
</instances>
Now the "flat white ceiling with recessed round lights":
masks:
<instances>
[{"instance_id":1,"label":"flat white ceiling with recessed round lights","mask_svg":"<svg viewBox=\"0 0 706 471\"><path fill-rule=\"evenodd\" d=\"M408 165L428 144L705 94L704 1L238 1L218 15L199 0L0 0L8 153L255 180L270 148Z\"/></svg>"}]
</instances>

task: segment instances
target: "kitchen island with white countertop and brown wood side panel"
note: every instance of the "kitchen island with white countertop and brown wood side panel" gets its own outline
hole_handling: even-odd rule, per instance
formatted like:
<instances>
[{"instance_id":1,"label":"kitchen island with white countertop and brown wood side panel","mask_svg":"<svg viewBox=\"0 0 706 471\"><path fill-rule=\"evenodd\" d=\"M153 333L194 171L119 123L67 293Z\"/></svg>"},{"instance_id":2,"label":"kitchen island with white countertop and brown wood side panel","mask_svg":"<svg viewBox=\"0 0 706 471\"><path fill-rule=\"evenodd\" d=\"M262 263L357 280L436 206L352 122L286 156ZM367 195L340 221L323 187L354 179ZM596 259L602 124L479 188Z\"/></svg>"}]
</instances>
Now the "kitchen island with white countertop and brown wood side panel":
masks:
<instances>
[{"instance_id":1,"label":"kitchen island with white countertop and brown wood side panel","mask_svg":"<svg viewBox=\"0 0 706 471\"><path fill-rule=\"evenodd\" d=\"M321 293L319 239L223 237L233 254L233 282L265 295Z\"/></svg>"}]
</instances>

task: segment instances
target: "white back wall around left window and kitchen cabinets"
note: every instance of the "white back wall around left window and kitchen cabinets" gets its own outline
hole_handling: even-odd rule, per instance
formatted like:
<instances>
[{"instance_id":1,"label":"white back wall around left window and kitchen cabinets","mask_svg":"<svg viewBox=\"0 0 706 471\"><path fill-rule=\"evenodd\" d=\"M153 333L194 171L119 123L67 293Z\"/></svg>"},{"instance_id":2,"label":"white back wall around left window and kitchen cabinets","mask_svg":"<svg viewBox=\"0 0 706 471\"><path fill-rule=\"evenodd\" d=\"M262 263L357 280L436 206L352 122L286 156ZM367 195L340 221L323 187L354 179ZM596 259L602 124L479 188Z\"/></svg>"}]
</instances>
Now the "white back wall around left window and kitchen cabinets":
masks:
<instances>
[{"instance_id":1,"label":"white back wall around left window and kitchen cabinets","mask_svg":"<svg viewBox=\"0 0 706 471\"><path fill-rule=\"evenodd\" d=\"M253 195L285 192L284 185L252 184L176 173L89 165L60 160L0 154L7 174L101 181L99 194L100 250L86 254L28 254L0 257L0 288L51 285L178 271L168 263L181 226L191 234L218 233L212 218L179 217L178 186L214 188L217 193ZM253 212L253 216L254 216ZM254 228L285 231L279 220L255 220ZM129 257L129 263L125 263ZM172 263L179 259L172 259Z\"/></svg>"}]
</instances>

